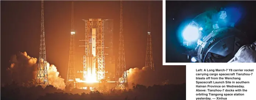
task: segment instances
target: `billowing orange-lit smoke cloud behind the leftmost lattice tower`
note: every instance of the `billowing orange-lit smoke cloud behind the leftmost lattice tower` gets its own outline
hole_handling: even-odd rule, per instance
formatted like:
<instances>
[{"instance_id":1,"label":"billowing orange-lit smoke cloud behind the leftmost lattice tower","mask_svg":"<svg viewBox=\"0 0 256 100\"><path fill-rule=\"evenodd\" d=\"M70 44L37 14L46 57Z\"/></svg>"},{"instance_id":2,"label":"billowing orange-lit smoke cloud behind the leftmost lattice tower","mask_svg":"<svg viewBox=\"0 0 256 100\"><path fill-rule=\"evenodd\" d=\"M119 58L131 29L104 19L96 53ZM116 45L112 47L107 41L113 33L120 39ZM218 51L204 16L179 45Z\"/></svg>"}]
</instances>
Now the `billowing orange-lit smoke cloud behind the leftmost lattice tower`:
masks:
<instances>
[{"instance_id":1,"label":"billowing orange-lit smoke cloud behind the leftmost lattice tower","mask_svg":"<svg viewBox=\"0 0 256 100\"><path fill-rule=\"evenodd\" d=\"M36 80L38 63L36 58L28 56L27 52L19 52L11 56L10 67L7 71L10 72L12 81L18 83L28 83L32 79ZM64 79L61 78L57 68L52 64L47 63L49 84L55 86L57 89L64 89Z\"/></svg>"}]
</instances>

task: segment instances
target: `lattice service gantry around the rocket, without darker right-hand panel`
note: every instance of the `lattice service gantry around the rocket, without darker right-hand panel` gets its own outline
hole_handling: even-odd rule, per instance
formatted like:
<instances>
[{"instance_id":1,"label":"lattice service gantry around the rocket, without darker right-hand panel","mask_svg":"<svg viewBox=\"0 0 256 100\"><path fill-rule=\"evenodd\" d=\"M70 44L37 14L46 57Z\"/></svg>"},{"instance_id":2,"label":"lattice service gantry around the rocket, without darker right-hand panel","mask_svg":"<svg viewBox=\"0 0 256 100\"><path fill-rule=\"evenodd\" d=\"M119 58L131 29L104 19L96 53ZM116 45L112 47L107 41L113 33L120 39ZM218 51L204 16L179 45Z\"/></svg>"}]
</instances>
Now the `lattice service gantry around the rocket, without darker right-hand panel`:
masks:
<instances>
[{"instance_id":1,"label":"lattice service gantry around the rocket, without darker right-hand panel","mask_svg":"<svg viewBox=\"0 0 256 100\"><path fill-rule=\"evenodd\" d=\"M105 78L105 55L104 52L104 20L101 18L90 18L85 22L85 54L83 56L83 73L85 81L99 82ZM96 78L95 78L96 77ZM87 79L86 79L87 78ZM93 80L88 80L93 78Z\"/></svg>"}]
</instances>

